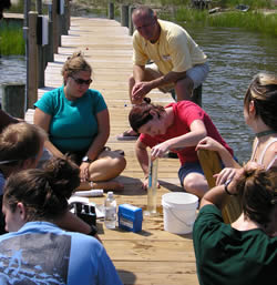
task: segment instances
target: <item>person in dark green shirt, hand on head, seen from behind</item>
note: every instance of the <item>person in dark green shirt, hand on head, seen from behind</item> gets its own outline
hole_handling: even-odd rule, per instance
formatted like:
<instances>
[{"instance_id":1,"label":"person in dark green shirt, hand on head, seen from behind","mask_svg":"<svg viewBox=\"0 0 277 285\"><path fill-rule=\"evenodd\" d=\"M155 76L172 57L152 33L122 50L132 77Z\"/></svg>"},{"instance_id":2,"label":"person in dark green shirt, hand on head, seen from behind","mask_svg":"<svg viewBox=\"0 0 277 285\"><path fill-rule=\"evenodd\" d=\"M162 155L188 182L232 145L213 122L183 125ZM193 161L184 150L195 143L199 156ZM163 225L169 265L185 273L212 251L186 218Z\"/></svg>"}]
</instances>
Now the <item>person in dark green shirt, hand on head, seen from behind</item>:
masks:
<instances>
[{"instance_id":1,"label":"person in dark green shirt, hand on head, seen from behind","mask_svg":"<svg viewBox=\"0 0 277 285\"><path fill-rule=\"evenodd\" d=\"M276 174L249 162L228 185L204 195L193 231L201 285L276 284ZM243 213L225 224L220 210L229 195L237 195Z\"/></svg>"}]
</instances>

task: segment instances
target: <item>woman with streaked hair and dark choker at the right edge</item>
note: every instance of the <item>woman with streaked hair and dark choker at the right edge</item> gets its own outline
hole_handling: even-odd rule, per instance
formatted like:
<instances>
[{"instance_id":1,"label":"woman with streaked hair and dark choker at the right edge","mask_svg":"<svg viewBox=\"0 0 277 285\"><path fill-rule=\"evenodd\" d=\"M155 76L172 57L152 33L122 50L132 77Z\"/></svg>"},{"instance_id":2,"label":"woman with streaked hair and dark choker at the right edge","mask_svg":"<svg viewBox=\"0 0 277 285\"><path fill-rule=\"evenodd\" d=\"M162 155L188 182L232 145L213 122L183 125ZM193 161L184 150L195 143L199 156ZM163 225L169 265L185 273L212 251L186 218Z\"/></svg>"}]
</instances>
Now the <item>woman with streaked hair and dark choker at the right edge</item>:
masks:
<instances>
[{"instance_id":1,"label":"woman with streaked hair and dark choker at the right edge","mask_svg":"<svg viewBox=\"0 0 277 285\"><path fill-rule=\"evenodd\" d=\"M256 134L250 161L265 169L277 167L277 75L258 73L254 77L244 99L244 116ZM232 155L211 138L203 139L196 150L217 151L225 167L216 179L223 184L234 177L240 165Z\"/></svg>"}]
</instances>

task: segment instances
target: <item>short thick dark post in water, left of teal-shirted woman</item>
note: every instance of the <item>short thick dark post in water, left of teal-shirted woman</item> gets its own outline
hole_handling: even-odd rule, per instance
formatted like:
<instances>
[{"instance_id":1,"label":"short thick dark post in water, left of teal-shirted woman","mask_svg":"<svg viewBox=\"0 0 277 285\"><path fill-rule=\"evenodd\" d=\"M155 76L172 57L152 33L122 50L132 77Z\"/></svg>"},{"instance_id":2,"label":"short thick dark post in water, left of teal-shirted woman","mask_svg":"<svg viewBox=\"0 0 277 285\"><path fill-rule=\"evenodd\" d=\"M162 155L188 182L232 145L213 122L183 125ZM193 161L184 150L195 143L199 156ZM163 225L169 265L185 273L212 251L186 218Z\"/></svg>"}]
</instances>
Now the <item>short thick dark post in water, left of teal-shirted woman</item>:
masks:
<instances>
[{"instance_id":1,"label":"short thick dark post in water, left of teal-shirted woman","mask_svg":"<svg viewBox=\"0 0 277 285\"><path fill-rule=\"evenodd\" d=\"M2 83L2 110L12 116L24 119L25 112L25 84Z\"/></svg>"}]
</instances>

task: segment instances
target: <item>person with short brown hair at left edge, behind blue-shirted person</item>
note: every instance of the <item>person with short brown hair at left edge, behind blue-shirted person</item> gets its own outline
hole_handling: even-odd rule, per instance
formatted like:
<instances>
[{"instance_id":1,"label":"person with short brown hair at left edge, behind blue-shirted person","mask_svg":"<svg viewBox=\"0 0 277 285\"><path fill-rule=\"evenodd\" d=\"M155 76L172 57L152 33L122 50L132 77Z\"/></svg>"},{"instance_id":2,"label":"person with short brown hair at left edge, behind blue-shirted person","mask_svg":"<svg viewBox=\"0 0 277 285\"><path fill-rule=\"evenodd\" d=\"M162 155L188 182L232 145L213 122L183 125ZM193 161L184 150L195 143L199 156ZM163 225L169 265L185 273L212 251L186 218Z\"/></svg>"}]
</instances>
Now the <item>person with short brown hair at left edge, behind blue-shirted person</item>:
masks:
<instances>
[{"instance_id":1,"label":"person with short brown hair at left edge, behind blue-shirted person","mask_svg":"<svg viewBox=\"0 0 277 285\"><path fill-rule=\"evenodd\" d=\"M34 169L45 140L47 133L41 128L23 122L10 124L3 130L0 135L0 202L6 180L21 170ZM6 231L2 212L0 213L0 234L2 234ZM69 231L98 237L94 226L84 223L69 211L60 217L59 225Z\"/></svg>"}]
</instances>

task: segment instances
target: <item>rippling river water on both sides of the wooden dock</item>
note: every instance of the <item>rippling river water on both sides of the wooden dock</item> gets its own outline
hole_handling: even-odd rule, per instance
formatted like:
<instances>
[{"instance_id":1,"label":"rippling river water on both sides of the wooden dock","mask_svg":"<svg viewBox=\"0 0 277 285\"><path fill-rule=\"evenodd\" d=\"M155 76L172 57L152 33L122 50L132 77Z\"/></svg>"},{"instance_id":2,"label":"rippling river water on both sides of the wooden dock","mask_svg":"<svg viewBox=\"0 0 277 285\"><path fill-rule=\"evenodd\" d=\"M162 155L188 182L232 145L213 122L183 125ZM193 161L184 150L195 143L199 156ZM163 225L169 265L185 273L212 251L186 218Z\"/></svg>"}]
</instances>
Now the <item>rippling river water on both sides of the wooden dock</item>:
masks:
<instances>
[{"instance_id":1,"label":"rippling river water on both sides of the wooden dock","mask_svg":"<svg viewBox=\"0 0 277 285\"><path fill-rule=\"evenodd\" d=\"M249 159L254 134L244 122L243 99L252 78L276 72L277 39L230 28L185 27L208 55L203 109L211 115L239 162ZM25 81L23 57L0 58L0 83Z\"/></svg>"}]
</instances>

